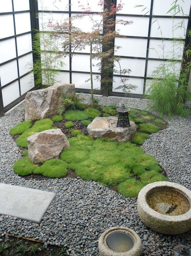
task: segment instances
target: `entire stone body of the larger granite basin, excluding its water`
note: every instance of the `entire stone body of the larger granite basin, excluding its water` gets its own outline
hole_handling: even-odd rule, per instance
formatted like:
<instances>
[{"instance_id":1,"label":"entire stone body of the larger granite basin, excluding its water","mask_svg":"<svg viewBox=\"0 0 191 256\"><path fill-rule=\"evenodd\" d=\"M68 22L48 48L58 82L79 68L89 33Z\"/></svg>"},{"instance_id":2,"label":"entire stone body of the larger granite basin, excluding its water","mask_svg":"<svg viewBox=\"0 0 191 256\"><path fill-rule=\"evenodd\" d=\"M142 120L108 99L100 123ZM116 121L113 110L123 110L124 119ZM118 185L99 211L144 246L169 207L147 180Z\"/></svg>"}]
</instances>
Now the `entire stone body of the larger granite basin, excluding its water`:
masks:
<instances>
[{"instance_id":1,"label":"entire stone body of the larger granite basin, excluding its water","mask_svg":"<svg viewBox=\"0 0 191 256\"><path fill-rule=\"evenodd\" d=\"M191 208L181 215L161 214L153 210L147 203L147 195L151 190L167 187L182 193L191 205L191 191L182 185L160 181L153 182L141 189L137 200L138 214L142 222L152 230L167 235L177 235L191 229Z\"/></svg>"}]
</instances>

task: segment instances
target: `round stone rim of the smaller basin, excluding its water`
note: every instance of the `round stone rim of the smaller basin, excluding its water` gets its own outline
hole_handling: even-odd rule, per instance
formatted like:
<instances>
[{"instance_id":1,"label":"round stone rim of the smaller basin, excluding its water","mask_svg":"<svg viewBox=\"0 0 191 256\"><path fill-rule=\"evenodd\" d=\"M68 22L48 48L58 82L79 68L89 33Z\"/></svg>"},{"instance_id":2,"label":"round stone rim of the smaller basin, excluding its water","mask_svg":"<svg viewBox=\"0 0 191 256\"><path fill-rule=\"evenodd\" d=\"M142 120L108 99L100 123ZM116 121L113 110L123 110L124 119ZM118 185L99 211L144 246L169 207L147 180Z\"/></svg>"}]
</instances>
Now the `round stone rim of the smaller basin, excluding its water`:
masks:
<instances>
[{"instance_id":1,"label":"round stone rim of the smaller basin, excluding its water","mask_svg":"<svg viewBox=\"0 0 191 256\"><path fill-rule=\"evenodd\" d=\"M108 245L107 245L107 238L110 234L115 233L115 232L124 232L128 235L130 235L134 241L133 247L125 252L117 252L111 250ZM99 246L99 253L100 256L140 256L141 254L141 239L138 234L136 234L135 231L133 231L130 228L126 227L112 227L107 229L105 232L103 232L99 238L98 241L98 246Z\"/></svg>"}]
</instances>

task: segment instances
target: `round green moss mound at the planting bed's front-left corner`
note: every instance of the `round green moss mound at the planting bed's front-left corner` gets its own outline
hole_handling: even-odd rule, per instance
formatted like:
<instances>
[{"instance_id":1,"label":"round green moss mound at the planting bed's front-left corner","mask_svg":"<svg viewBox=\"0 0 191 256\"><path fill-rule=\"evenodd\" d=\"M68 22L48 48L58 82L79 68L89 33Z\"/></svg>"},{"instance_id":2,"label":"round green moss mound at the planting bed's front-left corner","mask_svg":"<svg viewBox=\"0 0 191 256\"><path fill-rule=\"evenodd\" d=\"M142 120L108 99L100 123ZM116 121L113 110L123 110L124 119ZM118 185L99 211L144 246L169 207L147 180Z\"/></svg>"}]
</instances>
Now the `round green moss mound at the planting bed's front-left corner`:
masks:
<instances>
[{"instance_id":1,"label":"round green moss mound at the planting bed's front-left corner","mask_svg":"<svg viewBox=\"0 0 191 256\"><path fill-rule=\"evenodd\" d=\"M31 174L38 165L34 165L33 162L28 158L24 157L16 161L13 165L13 170L20 176Z\"/></svg>"}]
</instances>

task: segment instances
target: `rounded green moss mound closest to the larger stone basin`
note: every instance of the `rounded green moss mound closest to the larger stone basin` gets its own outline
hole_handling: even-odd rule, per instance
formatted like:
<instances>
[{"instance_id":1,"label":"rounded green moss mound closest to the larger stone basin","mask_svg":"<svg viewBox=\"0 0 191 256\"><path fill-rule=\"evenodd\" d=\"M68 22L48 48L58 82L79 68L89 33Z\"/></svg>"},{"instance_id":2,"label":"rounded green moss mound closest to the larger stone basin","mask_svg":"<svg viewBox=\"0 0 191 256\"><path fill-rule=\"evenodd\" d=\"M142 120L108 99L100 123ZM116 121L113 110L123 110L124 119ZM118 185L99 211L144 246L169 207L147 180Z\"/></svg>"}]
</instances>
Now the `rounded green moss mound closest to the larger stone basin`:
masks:
<instances>
[{"instance_id":1,"label":"rounded green moss mound closest to the larger stone basin","mask_svg":"<svg viewBox=\"0 0 191 256\"><path fill-rule=\"evenodd\" d=\"M137 197L139 191L144 187L144 183L134 178L127 179L118 185L118 191L126 197Z\"/></svg>"}]
</instances>

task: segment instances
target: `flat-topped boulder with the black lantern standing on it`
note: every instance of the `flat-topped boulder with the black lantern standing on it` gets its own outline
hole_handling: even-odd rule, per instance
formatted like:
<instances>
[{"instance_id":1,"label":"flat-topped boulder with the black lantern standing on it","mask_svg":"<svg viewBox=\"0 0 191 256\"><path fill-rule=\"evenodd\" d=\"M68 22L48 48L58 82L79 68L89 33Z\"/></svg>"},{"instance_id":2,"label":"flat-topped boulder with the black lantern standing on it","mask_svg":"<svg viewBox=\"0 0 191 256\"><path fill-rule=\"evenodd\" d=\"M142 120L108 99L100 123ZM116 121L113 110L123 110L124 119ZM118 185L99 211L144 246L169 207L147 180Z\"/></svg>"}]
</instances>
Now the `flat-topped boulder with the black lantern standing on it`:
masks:
<instances>
[{"instance_id":1,"label":"flat-topped boulder with the black lantern standing on it","mask_svg":"<svg viewBox=\"0 0 191 256\"><path fill-rule=\"evenodd\" d=\"M92 138L107 137L114 141L129 141L134 136L136 125L130 121L130 127L117 127L117 117L96 117L87 127Z\"/></svg>"}]
</instances>

